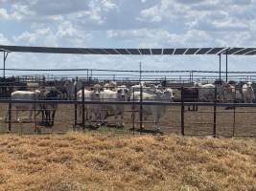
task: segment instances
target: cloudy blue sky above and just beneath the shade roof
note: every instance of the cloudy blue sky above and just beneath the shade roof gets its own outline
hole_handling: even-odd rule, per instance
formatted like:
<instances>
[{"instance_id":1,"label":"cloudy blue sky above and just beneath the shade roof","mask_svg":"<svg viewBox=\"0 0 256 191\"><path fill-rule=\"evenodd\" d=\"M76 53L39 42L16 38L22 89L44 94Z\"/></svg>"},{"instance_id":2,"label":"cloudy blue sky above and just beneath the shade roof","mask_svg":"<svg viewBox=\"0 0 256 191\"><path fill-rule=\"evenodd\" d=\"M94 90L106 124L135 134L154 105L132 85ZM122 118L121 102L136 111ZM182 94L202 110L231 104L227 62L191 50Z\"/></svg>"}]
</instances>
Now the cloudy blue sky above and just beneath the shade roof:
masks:
<instances>
[{"instance_id":1,"label":"cloudy blue sky above and just beneath the shade roof","mask_svg":"<svg viewBox=\"0 0 256 191\"><path fill-rule=\"evenodd\" d=\"M256 0L0 0L0 44L93 48L256 47ZM8 68L218 70L217 56L11 53ZM232 56L256 71L256 56Z\"/></svg>"}]
</instances>

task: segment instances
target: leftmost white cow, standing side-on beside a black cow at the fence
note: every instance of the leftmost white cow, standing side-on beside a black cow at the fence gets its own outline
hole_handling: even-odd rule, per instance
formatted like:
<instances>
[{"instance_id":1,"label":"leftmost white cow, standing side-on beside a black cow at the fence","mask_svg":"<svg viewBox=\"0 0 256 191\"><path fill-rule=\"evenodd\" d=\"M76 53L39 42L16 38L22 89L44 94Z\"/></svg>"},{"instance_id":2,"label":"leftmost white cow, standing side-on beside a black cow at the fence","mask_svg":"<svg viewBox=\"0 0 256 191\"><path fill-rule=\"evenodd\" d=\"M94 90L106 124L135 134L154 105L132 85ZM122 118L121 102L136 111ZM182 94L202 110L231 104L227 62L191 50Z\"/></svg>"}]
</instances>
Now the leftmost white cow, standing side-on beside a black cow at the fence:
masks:
<instances>
[{"instance_id":1,"label":"leftmost white cow, standing side-on beside a black cow at the fence","mask_svg":"<svg viewBox=\"0 0 256 191\"><path fill-rule=\"evenodd\" d=\"M12 93L12 100L28 100L28 101L34 101L38 100L40 95L40 91L15 91ZM18 114L20 111L29 111L29 121L32 121L32 114L33 111L39 107L38 104L35 103L13 103L12 107L15 108L15 120L19 121L20 118L18 117ZM9 117L9 113L7 113L5 120Z\"/></svg>"}]
</instances>

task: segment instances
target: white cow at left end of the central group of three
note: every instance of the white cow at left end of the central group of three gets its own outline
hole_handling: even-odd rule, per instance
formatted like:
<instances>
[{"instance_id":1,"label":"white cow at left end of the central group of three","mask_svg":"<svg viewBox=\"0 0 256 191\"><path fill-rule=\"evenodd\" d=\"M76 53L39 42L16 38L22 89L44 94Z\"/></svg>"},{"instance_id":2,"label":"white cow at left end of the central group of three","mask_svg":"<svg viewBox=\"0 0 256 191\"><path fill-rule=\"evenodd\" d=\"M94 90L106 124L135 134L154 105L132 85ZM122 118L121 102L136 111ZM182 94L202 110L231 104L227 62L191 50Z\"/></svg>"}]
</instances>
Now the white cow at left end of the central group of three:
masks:
<instances>
[{"instance_id":1,"label":"white cow at left end of the central group of three","mask_svg":"<svg viewBox=\"0 0 256 191\"><path fill-rule=\"evenodd\" d=\"M84 101L100 101L100 93L103 91L102 86L96 84L92 87L92 90L83 90ZM77 93L77 100L82 100L82 90ZM78 106L78 113L81 116L81 107ZM98 104L85 104L84 106L85 117L87 118L89 125L91 125L92 117L94 116L97 122L97 125L100 125L101 122L101 107Z\"/></svg>"}]
</instances>

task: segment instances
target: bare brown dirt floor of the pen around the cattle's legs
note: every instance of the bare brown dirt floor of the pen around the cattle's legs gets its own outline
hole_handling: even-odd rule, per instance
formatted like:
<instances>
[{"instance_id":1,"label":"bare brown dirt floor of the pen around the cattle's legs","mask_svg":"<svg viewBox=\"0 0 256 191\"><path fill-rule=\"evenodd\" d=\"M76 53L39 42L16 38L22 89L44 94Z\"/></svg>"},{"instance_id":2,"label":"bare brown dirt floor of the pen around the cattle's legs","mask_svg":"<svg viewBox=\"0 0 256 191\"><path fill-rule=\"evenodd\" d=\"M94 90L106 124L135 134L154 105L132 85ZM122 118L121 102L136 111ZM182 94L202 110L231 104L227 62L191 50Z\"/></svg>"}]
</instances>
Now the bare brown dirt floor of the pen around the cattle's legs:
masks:
<instances>
[{"instance_id":1,"label":"bare brown dirt floor of the pen around the cattle's legs","mask_svg":"<svg viewBox=\"0 0 256 191\"><path fill-rule=\"evenodd\" d=\"M8 131L8 123L5 122L8 105L0 104L0 132ZM12 108L14 109L14 108ZM133 119L131 117L131 109L127 106L125 113L124 130L129 131L133 127ZM41 129L42 133L64 133L71 131L74 127L74 105L59 104L55 125L45 127L40 125L40 116L33 118L33 122L28 122L28 112L20 112L23 119L20 122L14 121L14 111L12 111L12 132L20 134L35 133L35 127ZM34 115L33 115L34 117ZM167 108L167 112L160 119L160 129L164 134L180 134L180 107L172 106ZM81 119L78 119L79 122ZM107 123L109 126L114 126L114 117L108 117ZM185 135L207 136L213 133L213 107L199 107L198 112L190 112L185 108ZM138 117L135 118L135 130L139 128ZM78 126L79 127L79 126ZM220 136L256 136L256 108L236 108L234 110L225 110L217 108L217 135ZM105 128L105 127L103 127ZM153 129L152 117L147 117L144 120L144 132L151 133ZM149 131L146 131L149 130Z\"/></svg>"}]
</instances>

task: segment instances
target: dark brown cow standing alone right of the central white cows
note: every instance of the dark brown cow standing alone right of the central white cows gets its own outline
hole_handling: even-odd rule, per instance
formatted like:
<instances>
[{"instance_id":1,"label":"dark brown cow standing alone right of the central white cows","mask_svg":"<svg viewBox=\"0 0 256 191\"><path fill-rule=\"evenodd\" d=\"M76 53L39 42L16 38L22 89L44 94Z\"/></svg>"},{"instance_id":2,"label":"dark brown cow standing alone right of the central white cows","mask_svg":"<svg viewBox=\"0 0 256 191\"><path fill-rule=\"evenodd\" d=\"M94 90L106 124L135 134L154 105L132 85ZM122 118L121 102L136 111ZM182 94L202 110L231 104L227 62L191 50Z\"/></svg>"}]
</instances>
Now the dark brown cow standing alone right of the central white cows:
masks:
<instances>
[{"instance_id":1,"label":"dark brown cow standing alone right of the central white cows","mask_svg":"<svg viewBox=\"0 0 256 191\"><path fill-rule=\"evenodd\" d=\"M184 102L198 102L198 88L183 88L181 91L181 97ZM188 111L198 111L198 104L193 103L188 107Z\"/></svg>"}]
</instances>

